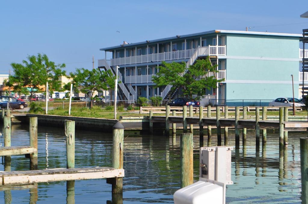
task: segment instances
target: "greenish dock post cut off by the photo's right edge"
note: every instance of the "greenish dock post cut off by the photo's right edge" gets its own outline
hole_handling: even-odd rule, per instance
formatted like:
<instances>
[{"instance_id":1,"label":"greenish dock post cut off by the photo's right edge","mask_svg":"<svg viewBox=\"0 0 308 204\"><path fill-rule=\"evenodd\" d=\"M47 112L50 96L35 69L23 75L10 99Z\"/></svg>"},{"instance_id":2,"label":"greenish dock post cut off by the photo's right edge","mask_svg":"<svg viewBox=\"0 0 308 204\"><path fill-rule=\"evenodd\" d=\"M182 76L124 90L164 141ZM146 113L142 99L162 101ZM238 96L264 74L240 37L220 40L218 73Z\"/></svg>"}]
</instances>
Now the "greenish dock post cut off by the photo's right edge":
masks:
<instances>
[{"instance_id":1,"label":"greenish dock post cut off by the photo's right edge","mask_svg":"<svg viewBox=\"0 0 308 204\"><path fill-rule=\"evenodd\" d=\"M302 203L308 202L308 137L300 138Z\"/></svg>"}]
</instances>

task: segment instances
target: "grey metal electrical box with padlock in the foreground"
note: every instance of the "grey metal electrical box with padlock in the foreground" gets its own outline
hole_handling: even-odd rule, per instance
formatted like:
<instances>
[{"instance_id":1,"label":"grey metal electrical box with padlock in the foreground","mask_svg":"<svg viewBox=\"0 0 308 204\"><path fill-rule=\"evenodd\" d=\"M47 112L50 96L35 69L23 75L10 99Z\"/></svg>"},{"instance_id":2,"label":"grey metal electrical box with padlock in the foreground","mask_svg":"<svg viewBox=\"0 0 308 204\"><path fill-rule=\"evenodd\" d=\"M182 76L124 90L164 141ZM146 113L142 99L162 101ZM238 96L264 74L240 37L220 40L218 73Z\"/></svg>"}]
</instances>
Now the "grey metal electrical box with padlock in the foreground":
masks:
<instances>
[{"instance_id":1,"label":"grey metal electrical box with padlock in the foreground","mask_svg":"<svg viewBox=\"0 0 308 204\"><path fill-rule=\"evenodd\" d=\"M233 147L201 147L199 177L233 184L231 180L231 150Z\"/></svg>"}]
</instances>

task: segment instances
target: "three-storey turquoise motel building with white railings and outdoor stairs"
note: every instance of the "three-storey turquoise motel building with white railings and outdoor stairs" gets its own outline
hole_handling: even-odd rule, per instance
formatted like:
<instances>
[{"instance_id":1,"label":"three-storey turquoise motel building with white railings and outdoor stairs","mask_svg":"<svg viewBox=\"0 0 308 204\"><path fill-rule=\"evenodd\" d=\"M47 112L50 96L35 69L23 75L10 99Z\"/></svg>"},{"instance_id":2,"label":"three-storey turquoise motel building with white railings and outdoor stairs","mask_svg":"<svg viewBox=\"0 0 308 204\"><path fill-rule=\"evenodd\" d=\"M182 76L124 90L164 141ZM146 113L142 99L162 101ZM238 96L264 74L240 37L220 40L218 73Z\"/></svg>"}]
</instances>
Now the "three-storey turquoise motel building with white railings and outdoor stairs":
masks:
<instances>
[{"instance_id":1,"label":"three-storey turquoise motel building with white railings and outdoor stairs","mask_svg":"<svg viewBox=\"0 0 308 204\"><path fill-rule=\"evenodd\" d=\"M262 100L261 105L268 105L266 100L293 95L291 75L295 97L299 96L303 77L299 64L303 53L308 55L299 47L301 38L302 34L233 30L176 35L102 48L105 59L98 61L98 67L115 73L119 66L119 100L136 100L140 96L167 100L179 97L179 90L172 92L170 85L154 86L152 76L159 72L161 62L184 61L189 66L209 56L212 64L218 65L217 78L224 81L207 90L202 100L220 105L240 105L242 101L249 105L250 100L256 100L258 105ZM107 52L112 53L112 59L106 59ZM307 80L308 76L304 77Z\"/></svg>"}]
</instances>

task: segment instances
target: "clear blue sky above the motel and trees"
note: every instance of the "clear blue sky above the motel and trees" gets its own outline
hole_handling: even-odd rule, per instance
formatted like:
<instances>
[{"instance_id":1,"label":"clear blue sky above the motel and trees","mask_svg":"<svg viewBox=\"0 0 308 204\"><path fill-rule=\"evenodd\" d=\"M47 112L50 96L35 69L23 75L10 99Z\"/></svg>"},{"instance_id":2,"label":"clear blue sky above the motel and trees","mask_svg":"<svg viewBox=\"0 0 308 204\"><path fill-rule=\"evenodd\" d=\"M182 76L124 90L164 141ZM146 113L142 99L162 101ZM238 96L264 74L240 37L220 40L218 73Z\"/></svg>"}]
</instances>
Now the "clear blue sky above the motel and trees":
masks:
<instances>
[{"instance_id":1,"label":"clear blue sky above the motel and trees","mask_svg":"<svg viewBox=\"0 0 308 204\"><path fill-rule=\"evenodd\" d=\"M67 72L92 68L100 48L213 29L301 33L305 1L1 1L0 73L45 53ZM285 25L293 24L293 25ZM279 26L271 26L279 25ZM120 31L117 33L116 31Z\"/></svg>"}]
</instances>

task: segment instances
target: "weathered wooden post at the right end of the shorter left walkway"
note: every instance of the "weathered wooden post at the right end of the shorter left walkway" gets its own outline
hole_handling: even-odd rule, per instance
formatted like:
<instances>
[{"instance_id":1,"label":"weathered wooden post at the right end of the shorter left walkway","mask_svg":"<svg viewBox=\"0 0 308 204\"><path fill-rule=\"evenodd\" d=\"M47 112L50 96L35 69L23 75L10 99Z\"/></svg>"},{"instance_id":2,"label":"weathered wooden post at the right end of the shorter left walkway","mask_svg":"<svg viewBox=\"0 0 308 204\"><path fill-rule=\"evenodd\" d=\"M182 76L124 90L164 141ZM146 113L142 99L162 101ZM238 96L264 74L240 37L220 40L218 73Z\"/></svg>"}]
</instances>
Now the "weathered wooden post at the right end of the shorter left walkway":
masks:
<instances>
[{"instance_id":1,"label":"weathered wooden post at the right end of the shorter left walkway","mask_svg":"<svg viewBox=\"0 0 308 204\"><path fill-rule=\"evenodd\" d=\"M30 146L36 148L36 152L30 154L30 170L38 170L38 118L29 119Z\"/></svg>"}]
</instances>

